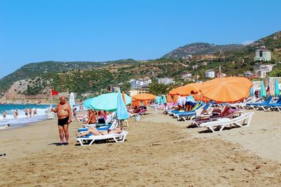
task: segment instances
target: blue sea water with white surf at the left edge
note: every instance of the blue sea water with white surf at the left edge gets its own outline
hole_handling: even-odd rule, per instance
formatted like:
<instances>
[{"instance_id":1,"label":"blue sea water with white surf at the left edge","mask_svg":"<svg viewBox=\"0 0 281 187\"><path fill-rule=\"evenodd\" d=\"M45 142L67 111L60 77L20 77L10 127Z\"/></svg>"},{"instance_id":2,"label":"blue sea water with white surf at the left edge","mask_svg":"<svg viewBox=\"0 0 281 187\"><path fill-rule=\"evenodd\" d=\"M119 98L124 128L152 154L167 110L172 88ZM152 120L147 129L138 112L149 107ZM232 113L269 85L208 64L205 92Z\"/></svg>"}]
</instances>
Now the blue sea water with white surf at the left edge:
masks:
<instances>
[{"instance_id":1,"label":"blue sea water with white surf at the left edge","mask_svg":"<svg viewBox=\"0 0 281 187\"><path fill-rule=\"evenodd\" d=\"M53 106L55 107L55 106ZM32 109L32 117L25 117L25 108ZM37 116L33 116L34 109L37 109ZM13 112L18 110L18 118L13 117ZM20 127L29 123L46 120L46 111L50 110L50 105L46 104L0 104L0 127L10 124L11 127ZM3 112L6 111L6 120Z\"/></svg>"}]
</instances>

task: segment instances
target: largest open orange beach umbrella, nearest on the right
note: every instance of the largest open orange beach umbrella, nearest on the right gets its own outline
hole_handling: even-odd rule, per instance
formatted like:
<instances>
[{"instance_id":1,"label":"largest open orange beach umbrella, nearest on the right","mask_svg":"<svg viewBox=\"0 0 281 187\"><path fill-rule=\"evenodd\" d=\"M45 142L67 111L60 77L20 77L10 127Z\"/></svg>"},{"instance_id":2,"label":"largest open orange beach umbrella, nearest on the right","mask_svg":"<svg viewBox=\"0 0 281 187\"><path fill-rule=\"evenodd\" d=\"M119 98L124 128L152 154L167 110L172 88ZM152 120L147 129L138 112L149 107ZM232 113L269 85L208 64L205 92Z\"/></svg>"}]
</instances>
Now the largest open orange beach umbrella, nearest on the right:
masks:
<instances>
[{"instance_id":1,"label":"largest open orange beach umbrella, nearest on the right","mask_svg":"<svg viewBox=\"0 0 281 187\"><path fill-rule=\"evenodd\" d=\"M214 78L202 84L204 97L216 102L237 102L249 96L251 81L244 77Z\"/></svg>"}]
</instances>

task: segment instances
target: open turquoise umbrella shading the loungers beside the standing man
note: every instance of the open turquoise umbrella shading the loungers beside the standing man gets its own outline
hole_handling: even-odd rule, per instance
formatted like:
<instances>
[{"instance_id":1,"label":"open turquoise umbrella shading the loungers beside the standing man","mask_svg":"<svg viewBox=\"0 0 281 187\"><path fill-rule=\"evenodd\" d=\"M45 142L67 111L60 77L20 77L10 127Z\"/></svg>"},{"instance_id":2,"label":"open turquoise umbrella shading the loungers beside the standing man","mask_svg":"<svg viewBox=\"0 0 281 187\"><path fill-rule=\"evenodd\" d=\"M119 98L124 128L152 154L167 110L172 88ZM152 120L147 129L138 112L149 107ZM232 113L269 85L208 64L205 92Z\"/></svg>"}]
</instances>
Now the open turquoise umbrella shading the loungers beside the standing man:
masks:
<instances>
[{"instance_id":1,"label":"open turquoise umbrella shading the loungers beside the standing man","mask_svg":"<svg viewBox=\"0 0 281 187\"><path fill-rule=\"evenodd\" d=\"M99 95L93 97L90 103L91 109L98 111L116 111L117 109L117 97L115 92ZM132 98L125 94L126 105L131 104Z\"/></svg>"}]
</instances>

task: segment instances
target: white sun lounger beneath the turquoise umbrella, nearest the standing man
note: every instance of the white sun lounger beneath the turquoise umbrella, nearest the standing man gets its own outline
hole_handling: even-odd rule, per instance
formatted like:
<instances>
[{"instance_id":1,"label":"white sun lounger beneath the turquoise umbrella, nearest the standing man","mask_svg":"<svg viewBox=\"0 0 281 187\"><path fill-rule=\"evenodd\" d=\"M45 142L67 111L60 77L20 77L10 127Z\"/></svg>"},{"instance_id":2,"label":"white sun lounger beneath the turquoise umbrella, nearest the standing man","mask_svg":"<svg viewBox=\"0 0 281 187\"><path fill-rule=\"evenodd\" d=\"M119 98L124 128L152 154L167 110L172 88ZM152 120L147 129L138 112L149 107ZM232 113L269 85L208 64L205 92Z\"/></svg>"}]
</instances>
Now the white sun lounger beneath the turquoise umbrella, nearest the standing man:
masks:
<instances>
[{"instance_id":1,"label":"white sun lounger beneath the turquoise umbrella, nearest the standing man","mask_svg":"<svg viewBox=\"0 0 281 187\"><path fill-rule=\"evenodd\" d=\"M77 141L81 144L81 146L91 146L95 140L102 140L102 139L113 139L115 142L123 142L126 139L126 135L128 134L127 131L123 131L119 134L105 134L105 135L91 135L89 137L79 137L76 138Z\"/></svg>"}]
</instances>

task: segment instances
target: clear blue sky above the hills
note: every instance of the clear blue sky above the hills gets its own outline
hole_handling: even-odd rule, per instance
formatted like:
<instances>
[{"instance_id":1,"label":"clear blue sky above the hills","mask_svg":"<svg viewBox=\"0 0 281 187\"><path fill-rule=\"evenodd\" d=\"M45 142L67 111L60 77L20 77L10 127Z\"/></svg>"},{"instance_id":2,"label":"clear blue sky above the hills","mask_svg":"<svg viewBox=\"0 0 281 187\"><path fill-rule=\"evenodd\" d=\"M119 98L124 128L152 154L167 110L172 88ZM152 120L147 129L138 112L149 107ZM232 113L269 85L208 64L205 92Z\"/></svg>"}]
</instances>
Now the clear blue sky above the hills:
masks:
<instances>
[{"instance_id":1,"label":"clear blue sky above the hills","mask_svg":"<svg viewBox=\"0 0 281 187\"><path fill-rule=\"evenodd\" d=\"M280 30L280 7L280 0L0 0L0 78L30 62L148 60L198 41L255 41Z\"/></svg>"}]
</instances>

